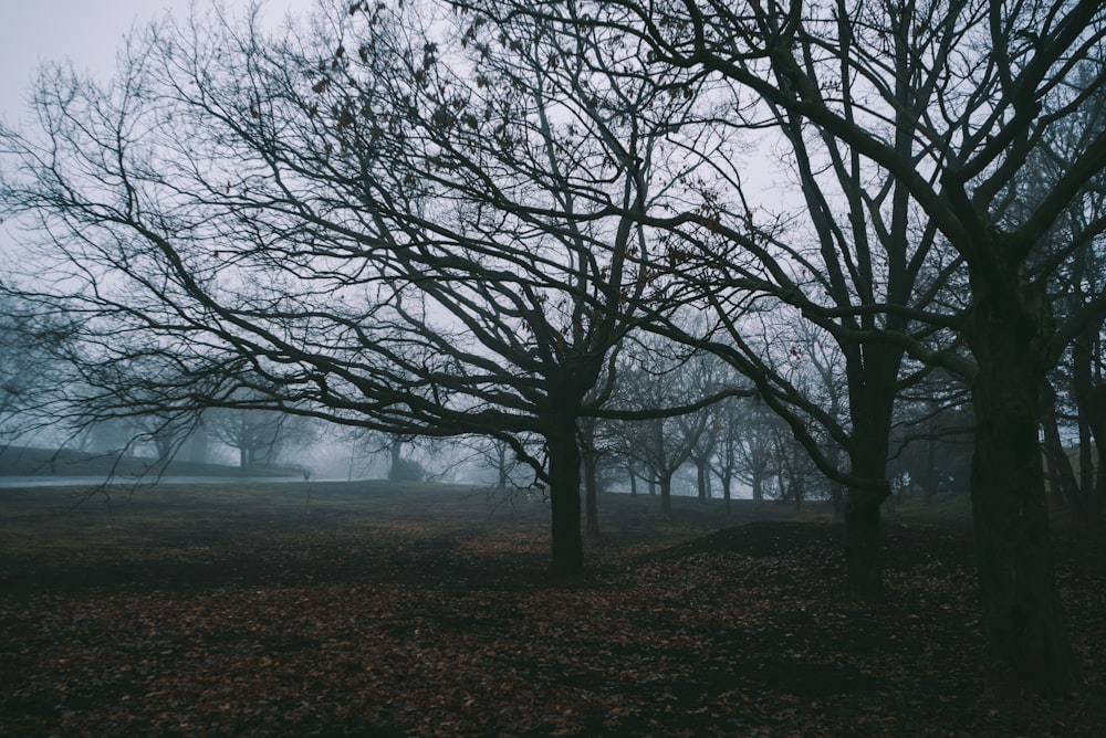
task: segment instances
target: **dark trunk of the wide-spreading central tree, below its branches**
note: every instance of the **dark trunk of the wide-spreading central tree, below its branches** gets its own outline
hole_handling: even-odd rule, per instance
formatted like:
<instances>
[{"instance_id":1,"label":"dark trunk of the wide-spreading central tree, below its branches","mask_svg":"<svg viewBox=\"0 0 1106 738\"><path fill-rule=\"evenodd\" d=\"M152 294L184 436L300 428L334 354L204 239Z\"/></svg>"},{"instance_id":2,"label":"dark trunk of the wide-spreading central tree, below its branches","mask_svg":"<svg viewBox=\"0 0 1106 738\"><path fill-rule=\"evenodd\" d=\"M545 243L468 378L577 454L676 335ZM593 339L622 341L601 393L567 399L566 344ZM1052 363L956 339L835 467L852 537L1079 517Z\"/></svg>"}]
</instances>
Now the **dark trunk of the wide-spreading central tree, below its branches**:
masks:
<instances>
[{"instance_id":1,"label":"dark trunk of the wide-spreading central tree, below its branches","mask_svg":"<svg viewBox=\"0 0 1106 738\"><path fill-rule=\"evenodd\" d=\"M549 444L553 571L576 574L584 569L584 544L580 530L580 449L574 421L551 422L545 440Z\"/></svg>"}]
</instances>

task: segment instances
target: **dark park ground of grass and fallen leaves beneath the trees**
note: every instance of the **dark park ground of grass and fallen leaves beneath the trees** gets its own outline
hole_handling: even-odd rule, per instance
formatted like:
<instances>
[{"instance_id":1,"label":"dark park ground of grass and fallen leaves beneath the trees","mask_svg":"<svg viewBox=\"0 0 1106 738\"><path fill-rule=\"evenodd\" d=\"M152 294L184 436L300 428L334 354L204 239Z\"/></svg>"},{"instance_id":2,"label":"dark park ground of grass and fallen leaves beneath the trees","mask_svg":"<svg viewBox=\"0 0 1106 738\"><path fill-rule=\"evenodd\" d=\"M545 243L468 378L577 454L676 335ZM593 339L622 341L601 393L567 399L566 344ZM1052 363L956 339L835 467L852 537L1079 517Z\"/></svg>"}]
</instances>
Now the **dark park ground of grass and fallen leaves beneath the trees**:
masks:
<instances>
[{"instance_id":1,"label":"dark park ground of grass and fallen leaves beneath the trees","mask_svg":"<svg viewBox=\"0 0 1106 738\"><path fill-rule=\"evenodd\" d=\"M889 510L842 594L824 510L601 498L578 579L547 508L466 488L0 491L0 735L1096 736L1106 545L1056 533L1074 696L987 688L969 529Z\"/></svg>"}]
</instances>

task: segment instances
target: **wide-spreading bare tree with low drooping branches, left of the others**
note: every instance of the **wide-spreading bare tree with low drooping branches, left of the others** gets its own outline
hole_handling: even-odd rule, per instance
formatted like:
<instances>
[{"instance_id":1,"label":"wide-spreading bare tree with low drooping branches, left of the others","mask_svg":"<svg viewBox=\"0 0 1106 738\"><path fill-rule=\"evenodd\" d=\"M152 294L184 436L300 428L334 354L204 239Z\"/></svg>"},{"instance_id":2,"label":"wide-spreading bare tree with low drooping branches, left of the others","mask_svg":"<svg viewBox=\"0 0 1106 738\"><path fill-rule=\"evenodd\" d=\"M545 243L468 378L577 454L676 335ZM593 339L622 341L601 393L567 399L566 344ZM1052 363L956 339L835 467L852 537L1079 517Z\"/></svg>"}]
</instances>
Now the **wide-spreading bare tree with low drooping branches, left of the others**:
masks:
<instances>
[{"instance_id":1,"label":"wide-spreading bare tree with low drooping branches, left of the others","mask_svg":"<svg viewBox=\"0 0 1106 738\"><path fill-rule=\"evenodd\" d=\"M678 176L689 102L615 80L599 39L440 11L336 2L303 32L216 11L132 38L107 86L46 70L39 130L0 133L0 201L34 241L18 289L86 318L105 414L249 393L510 444L576 571L576 423L656 293L635 213Z\"/></svg>"}]
</instances>

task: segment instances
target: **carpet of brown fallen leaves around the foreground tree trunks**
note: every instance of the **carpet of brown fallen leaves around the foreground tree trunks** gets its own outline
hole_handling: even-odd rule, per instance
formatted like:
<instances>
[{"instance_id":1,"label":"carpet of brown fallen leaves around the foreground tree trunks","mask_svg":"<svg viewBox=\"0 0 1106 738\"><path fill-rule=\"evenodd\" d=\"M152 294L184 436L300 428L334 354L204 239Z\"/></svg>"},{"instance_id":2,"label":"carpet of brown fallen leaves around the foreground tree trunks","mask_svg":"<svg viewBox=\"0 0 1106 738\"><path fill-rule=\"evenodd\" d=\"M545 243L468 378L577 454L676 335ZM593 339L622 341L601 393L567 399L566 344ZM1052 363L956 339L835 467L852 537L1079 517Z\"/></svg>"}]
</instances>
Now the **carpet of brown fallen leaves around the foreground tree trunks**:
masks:
<instances>
[{"instance_id":1,"label":"carpet of brown fallen leaves around the foreground tree trunks","mask_svg":"<svg viewBox=\"0 0 1106 738\"><path fill-rule=\"evenodd\" d=\"M19 563L43 580L0 599L0 732L1089 736L1106 717L1100 548L1063 570L1088 695L1027 715L981 697L963 547L917 531L889 536L890 593L860 602L825 526L608 551L560 583L541 528L343 530L128 551L102 584Z\"/></svg>"}]
</instances>

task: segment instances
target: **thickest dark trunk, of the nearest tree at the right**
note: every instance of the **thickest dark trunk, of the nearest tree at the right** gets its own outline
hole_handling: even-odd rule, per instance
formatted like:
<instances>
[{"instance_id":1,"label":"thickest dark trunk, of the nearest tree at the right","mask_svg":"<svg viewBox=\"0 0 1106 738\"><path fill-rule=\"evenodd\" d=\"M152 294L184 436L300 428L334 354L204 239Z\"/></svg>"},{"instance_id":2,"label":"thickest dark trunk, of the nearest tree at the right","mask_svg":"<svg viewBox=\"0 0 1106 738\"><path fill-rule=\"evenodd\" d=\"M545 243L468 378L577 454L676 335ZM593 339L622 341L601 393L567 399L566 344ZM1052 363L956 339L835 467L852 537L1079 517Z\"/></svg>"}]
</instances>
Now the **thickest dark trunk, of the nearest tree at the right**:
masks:
<instances>
[{"instance_id":1,"label":"thickest dark trunk, of the nearest tree at the right","mask_svg":"<svg viewBox=\"0 0 1106 738\"><path fill-rule=\"evenodd\" d=\"M1068 693L1079 675L1061 614L1037 444L1052 321L1043 291L1016 276L984 276L973 285L969 331L979 367L971 498L983 635L1000 686Z\"/></svg>"}]
</instances>

